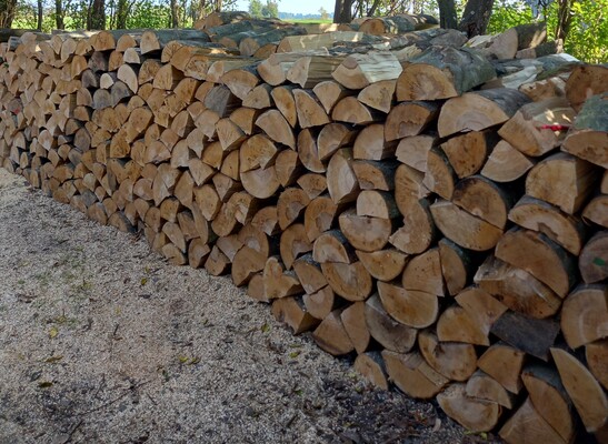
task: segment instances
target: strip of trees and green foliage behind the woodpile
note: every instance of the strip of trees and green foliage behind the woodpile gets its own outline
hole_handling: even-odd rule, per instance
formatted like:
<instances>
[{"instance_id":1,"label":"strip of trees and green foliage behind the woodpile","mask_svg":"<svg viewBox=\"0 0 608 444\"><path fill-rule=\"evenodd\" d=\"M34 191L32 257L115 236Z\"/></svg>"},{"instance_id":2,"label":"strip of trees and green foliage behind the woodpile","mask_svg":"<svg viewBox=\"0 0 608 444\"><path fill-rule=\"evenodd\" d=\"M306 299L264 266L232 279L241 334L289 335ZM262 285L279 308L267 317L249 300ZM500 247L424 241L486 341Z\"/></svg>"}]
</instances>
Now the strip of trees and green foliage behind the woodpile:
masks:
<instances>
[{"instance_id":1,"label":"strip of trees and green foliage behind the woodpile","mask_svg":"<svg viewBox=\"0 0 608 444\"><path fill-rule=\"evenodd\" d=\"M608 61L608 0L335 0L316 12L319 19L346 22L366 16L428 13L441 24L469 36L497 33L531 21L547 21L550 36L562 39L565 51L587 62ZM0 0L0 27L40 29L187 28L217 10L235 10L237 0ZM287 8L287 7L286 7ZM281 4L250 0L249 12L282 17ZM289 12L289 11L285 11ZM465 18L477 14L480 29L467 29ZM317 20L319 21L319 20Z\"/></svg>"}]
</instances>

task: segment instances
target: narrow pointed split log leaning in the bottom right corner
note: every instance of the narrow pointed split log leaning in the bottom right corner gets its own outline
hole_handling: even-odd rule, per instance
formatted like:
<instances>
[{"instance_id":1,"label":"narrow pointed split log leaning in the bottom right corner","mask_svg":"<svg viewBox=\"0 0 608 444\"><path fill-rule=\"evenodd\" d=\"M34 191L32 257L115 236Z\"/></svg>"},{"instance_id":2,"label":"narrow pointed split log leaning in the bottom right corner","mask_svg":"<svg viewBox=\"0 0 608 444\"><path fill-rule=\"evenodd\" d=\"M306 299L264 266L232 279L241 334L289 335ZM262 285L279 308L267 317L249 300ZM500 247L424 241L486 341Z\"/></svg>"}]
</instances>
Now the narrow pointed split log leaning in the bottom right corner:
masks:
<instances>
[{"instance_id":1,"label":"narrow pointed split log leaning in the bottom right corner","mask_svg":"<svg viewBox=\"0 0 608 444\"><path fill-rule=\"evenodd\" d=\"M587 370L570 353L561 349L551 349L564 387L572 400L587 432L598 432L608 421L608 398L606 393Z\"/></svg>"}]
</instances>

